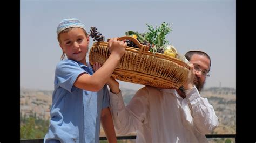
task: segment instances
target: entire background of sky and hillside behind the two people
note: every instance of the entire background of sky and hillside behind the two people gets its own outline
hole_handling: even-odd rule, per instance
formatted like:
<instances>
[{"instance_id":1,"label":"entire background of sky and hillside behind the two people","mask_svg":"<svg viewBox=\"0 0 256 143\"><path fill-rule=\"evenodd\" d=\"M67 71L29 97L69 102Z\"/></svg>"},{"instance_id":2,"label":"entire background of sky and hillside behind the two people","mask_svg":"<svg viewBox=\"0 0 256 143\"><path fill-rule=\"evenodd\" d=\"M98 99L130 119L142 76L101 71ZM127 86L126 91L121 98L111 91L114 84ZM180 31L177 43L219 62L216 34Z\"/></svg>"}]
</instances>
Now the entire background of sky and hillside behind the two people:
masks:
<instances>
[{"instance_id":1,"label":"entire background of sky and hillside behind the two people","mask_svg":"<svg viewBox=\"0 0 256 143\"><path fill-rule=\"evenodd\" d=\"M211 57L211 77L202 95L219 117L220 126L212 133L235 134L235 0L21 0L21 139L43 138L48 130L55 66L62 54L56 28L64 18L82 20L87 30L95 26L106 39L121 37L129 30L145 32L145 23L171 23L173 31L166 39L179 53L197 49ZM91 39L89 47L92 44ZM125 102L141 87L120 81Z\"/></svg>"}]
</instances>

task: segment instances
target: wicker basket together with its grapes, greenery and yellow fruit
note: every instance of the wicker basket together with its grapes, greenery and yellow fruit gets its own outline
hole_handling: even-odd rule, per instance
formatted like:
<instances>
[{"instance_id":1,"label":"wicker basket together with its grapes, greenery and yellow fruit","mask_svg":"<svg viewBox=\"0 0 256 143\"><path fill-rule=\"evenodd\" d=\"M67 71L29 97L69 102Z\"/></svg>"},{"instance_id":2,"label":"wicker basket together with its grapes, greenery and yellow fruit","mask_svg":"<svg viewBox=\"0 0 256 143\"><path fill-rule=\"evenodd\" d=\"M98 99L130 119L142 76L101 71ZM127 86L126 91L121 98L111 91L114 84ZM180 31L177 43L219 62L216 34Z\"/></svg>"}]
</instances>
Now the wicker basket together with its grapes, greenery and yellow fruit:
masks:
<instances>
[{"instance_id":1,"label":"wicker basket together with its grapes, greenery and yellow fruit","mask_svg":"<svg viewBox=\"0 0 256 143\"><path fill-rule=\"evenodd\" d=\"M165 39L172 31L170 25L163 23L154 28L147 24L147 27L149 30L145 33L127 31L118 38L127 42L127 47L112 76L125 82L178 89L188 77L189 66L179 60L182 56ZM89 62L104 65L110 56L109 45L97 28L91 27L89 34L97 41L90 48Z\"/></svg>"}]
</instances>

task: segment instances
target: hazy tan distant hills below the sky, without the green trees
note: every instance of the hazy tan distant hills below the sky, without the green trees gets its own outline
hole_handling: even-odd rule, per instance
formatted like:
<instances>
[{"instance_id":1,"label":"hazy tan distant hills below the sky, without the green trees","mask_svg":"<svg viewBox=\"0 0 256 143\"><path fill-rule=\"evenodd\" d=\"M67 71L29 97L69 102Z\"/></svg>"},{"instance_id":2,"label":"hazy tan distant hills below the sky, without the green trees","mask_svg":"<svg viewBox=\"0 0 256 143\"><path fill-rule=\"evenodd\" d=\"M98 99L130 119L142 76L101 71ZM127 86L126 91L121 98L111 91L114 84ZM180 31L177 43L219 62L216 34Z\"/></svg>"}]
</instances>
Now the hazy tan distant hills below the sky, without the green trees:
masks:
<instances>
[{"instance_id":1,"label":"hazy tan distant hills below the sky, without the green trees","mask_svg":"<svg viewBox=\"0 0 256 143\"><path fill-rule=\"evenodd\" d=\"M124 103L128 104L136 93L136 90L120 88ZM52 92L49 90L36 90L20 88L20 113L21 116L36 116L43 120L50 119L50 107L52 103ZM219 127L214 134L235 134L236 130L236 90L227 87L205 88L201 92L213 105L219 118Z\"/></svg>"}]
</instances>

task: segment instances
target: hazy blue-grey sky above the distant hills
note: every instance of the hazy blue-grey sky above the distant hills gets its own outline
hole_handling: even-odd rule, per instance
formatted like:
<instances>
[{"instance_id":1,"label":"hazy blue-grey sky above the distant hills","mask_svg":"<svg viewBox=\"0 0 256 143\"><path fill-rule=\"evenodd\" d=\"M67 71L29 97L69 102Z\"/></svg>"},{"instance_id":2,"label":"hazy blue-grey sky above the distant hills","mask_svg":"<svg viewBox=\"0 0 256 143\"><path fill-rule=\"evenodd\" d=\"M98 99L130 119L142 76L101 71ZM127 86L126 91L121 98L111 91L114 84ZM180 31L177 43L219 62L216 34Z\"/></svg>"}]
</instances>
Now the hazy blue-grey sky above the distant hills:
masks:
<instances>
[{"instance_id":1,"label":"hazy blue-grey sky above the distant hills","mask_svg":"<svg viewBox=\"0 0 256 143\"><path fill-rule=\"evenodd\" d=\"M87 31L95 26L105 39L126 31L147 30L146 23L171 23L166 39L185 54L201 50L211 57L205 87L236 88L236 4L209 1L41 1L21 0L20 85L53 90L55 67L62 50L56 28L62 19L78 18ZM90 39L90 45L93 44ZM143 85L119 81L120 87L137 90Z\"/></svg>"}]
</instances>

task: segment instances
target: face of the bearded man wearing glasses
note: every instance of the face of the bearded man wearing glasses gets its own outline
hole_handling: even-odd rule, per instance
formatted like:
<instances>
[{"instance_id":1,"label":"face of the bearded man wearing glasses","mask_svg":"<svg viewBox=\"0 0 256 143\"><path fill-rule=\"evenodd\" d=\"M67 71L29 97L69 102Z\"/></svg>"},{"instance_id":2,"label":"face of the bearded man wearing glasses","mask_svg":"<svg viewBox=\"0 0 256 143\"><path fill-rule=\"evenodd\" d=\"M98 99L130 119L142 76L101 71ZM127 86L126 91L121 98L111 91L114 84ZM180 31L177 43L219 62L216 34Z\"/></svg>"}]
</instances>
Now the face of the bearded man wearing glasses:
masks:
<instances>
[{"instance_id":1,"label":"face of the bearded man wearing glasses","mask_svg":"<svg viewBox=\"0 0 256 143\"><path fill-rule=\"evenodd\" d=\"M196 85L198 91L201 91L206 80L205 74L207 74L210 70L210 60L207 58L207 56L194 54L190 59L190 63L193 63L194 65L194 85Z\"/></svg>"}]
</instances>

